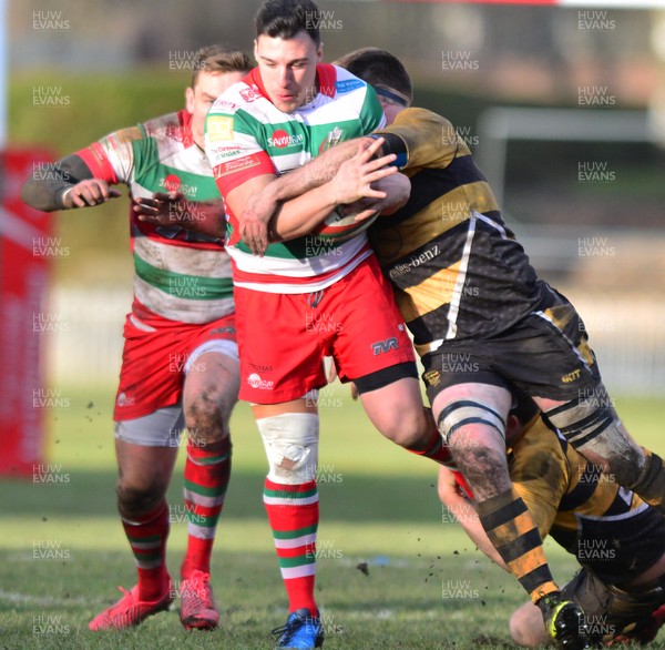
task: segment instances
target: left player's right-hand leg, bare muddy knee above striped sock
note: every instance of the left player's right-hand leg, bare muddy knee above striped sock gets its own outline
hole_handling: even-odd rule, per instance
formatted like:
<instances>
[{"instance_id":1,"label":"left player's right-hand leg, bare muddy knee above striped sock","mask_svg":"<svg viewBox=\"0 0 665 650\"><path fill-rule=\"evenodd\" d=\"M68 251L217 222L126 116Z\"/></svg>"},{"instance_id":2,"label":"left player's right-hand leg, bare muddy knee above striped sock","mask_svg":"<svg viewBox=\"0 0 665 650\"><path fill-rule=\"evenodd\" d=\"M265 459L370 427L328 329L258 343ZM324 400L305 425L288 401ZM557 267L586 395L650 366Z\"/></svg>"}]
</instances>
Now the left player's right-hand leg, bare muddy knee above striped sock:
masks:
<instances>
[{"instance_id":1,"label":"left player's right-hand leg, bare muddy knee above striped sock","mask_svg":"<svg viewBox=\"0 0 665 650\"><path fill-rule=\"evenodd\" d=\"M181 567L180 617L185 629L212 630L219 612L211 586L211 557L231 476L228 422L239 387L236 344L205 343L190 356L185 373L187 549Z\"/></svg>"}]
</instances>

